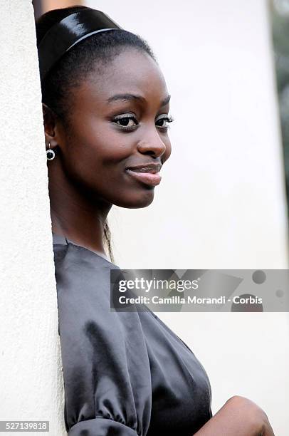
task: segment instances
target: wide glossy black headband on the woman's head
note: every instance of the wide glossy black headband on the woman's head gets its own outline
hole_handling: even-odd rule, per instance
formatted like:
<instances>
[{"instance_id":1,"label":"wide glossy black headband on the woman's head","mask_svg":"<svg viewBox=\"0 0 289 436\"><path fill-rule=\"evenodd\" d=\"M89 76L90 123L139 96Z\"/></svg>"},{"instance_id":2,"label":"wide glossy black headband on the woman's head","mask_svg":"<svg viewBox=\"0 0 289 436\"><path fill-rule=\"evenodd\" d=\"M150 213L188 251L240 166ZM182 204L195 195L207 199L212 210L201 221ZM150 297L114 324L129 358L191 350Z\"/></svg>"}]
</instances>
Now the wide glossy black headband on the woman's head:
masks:
<instances>
[{"instance_id":1,"label":"wide glossy black headband on the woman's head","mask_svg":"<svg viewBox=\"0 0 289 436\"><path fill-rule=\"evenodd\" d=\"M38 46L41 82L53 65L75 44L95 33L122 28L109 16L95 9L83 9L54 24Z\"/></svg>"}]
</instances>

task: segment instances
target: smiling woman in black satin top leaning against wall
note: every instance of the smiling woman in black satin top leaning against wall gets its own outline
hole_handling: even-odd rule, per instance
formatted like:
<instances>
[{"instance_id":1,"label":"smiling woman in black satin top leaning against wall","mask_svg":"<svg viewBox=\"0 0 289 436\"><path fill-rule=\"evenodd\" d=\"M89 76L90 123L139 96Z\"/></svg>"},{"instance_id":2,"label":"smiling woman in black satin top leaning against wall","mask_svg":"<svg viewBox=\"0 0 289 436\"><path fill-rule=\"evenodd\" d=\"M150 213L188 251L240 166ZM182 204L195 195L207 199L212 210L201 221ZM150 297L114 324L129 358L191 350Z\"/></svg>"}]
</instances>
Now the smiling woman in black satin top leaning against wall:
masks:
<instances>
[{"instance_id":1,"label":"smiling woman in black satin top leaning against wall","mask_svg":"<svg viewBox=\"0 0 289 436\"><path fill-rule=\"evenodd\" d=\"M147 308L110 311L112 204L146 207L171 154L169 93L142 38L84 6L36 24L70 436L272 436L233 397L214 417L194 353Z\"/></svg>"}]
</instances>

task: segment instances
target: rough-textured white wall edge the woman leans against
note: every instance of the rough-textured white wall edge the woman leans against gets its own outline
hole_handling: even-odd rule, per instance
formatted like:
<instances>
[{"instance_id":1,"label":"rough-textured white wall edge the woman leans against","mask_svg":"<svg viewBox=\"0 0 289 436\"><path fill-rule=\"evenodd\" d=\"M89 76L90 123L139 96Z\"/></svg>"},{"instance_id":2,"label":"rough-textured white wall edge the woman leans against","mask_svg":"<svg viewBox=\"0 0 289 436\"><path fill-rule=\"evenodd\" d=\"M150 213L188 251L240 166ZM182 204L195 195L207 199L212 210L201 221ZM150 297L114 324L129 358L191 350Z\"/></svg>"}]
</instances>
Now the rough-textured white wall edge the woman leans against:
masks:
<instances>
[{"instance_id":1,"label":"rough-textured white wall edge the woman leans against","mask_svg":"<svg viewBox=\"0 0 289 436\"><path fill-rule=\"evenodd\" d=\"M0 420L48 420L49 435L60 436L63 381L33 9L29 0L0 0L0 10Z\"/></svg>"}]
</instances>

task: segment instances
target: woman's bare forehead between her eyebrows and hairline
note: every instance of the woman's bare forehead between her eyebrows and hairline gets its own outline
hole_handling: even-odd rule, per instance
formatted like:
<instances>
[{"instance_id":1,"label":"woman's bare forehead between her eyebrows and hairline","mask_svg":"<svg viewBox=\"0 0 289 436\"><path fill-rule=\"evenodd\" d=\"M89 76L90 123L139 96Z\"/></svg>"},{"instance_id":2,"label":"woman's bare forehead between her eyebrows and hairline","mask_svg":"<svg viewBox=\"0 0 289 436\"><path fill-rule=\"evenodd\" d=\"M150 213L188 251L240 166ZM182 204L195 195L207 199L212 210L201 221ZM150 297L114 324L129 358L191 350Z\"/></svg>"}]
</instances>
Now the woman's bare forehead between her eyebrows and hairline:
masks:
<instances>
[{"instance_id":1,"label":"woman's bare forehead between her eyebrows and hairline","mask_svg":"<svg viewBox=\"0 0 289 436\"><path fill-rule=\"evenodd\" d=\"M90 73L80 85L82 98L107 102L115 94L142 95L147 101L164 100L167 85L157 63L147 53L127 49Z\"/></svg>"}]
</instances>

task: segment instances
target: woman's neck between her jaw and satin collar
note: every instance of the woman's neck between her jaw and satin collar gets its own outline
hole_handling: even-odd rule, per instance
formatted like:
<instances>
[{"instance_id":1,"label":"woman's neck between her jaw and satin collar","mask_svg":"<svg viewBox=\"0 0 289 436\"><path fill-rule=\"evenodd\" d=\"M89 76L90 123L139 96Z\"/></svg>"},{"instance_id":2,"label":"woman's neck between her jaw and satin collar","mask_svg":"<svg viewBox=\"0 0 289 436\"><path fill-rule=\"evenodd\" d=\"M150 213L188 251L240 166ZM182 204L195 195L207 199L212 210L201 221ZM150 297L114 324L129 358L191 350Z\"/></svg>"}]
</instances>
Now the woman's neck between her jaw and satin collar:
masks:
<instances>
[{"instance_id":1,"label":"woman's neck between her jaw and satin collar","mask_svg":"<svg viewBox=\"0 0 289 436\"><path fill-rule=\"evenodd\" d=\"M53 164L48 166L52 232L106 256L104 227L112 204L75 186L56 162Z\"/></svg>"}]
</instances>

